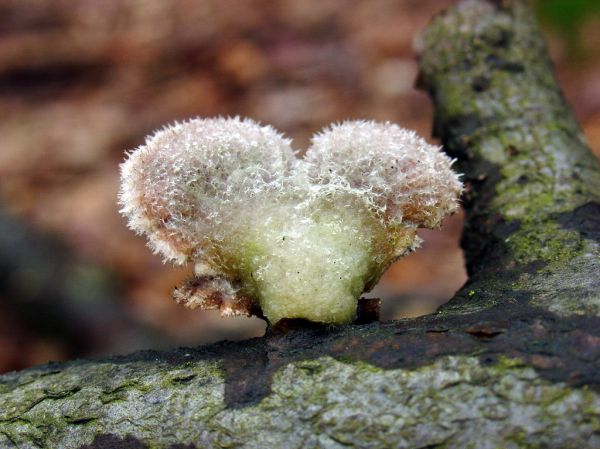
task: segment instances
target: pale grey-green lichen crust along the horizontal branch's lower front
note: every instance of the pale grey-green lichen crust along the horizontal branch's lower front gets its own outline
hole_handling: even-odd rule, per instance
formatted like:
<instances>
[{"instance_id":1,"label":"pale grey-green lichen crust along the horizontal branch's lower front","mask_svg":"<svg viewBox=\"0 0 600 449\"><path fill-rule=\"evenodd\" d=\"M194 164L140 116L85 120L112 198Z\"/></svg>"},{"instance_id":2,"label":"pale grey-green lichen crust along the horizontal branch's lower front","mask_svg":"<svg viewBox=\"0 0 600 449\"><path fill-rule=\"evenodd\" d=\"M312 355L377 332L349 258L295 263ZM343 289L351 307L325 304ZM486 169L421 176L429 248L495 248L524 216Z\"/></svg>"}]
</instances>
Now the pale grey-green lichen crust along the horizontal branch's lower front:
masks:
<instances>
[{"instance_id":1,"label":"pale grey-green lichen crust along the horizontal branch's lower front","mask_svg":"<svg viewBox=\"0 0 600 449\"><path fill-rule=\"evenodd\" d=\"M0 435L22 448L100 447L106 435L148 448L463 448L482 435L477 447L600 444L596 392L544 380L508 358L486 365L448 356L386 370L320 357L280 368L271 393L241 408L224 406L225 376L213 363L181 363L46 372L5 395ZM93 384L82 385L86 372Z\"/></svg>"}]
</instances>

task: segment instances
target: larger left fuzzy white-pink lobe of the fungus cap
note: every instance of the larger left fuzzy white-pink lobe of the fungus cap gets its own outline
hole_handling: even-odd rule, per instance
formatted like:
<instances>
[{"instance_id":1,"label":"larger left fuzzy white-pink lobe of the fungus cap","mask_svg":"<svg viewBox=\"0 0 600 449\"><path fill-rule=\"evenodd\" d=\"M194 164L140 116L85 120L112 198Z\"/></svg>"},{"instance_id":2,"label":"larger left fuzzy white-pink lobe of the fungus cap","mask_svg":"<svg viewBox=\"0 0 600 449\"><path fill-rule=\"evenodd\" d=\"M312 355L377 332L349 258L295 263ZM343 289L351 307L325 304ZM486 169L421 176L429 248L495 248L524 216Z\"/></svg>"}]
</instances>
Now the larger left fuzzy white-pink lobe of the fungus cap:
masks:
<instances>
[{"instance_id":1,"label":"larger left fuzzy white-pink lobe of the fungus cap","mask_svg":"<svg viewBox=\"0 0 600 449\"><path fill-rule=\"evenodd\" d=\"M295 163L290 140L250 119L167 126L121 165L121 213L168 261L198 259L231 208L276 186Z\"/></svg>"}]
</instances>

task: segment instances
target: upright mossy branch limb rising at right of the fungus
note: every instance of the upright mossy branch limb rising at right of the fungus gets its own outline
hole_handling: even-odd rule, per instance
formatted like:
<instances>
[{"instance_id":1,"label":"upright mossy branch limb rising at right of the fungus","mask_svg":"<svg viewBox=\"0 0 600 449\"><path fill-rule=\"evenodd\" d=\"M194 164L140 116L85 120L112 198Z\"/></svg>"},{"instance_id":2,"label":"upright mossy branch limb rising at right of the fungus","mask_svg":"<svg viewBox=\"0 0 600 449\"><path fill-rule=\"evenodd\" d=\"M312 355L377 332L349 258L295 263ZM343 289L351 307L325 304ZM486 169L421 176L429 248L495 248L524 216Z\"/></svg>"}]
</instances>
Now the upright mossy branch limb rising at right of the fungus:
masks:
<instances>
[{"instance_id":1,"label":"upright mossy branch limb rising at right of the fungus","mask_svg":"<svg viewBox=\"0 0 600 449\"><path fill-rule=\"evenodd\" d=\"M434 132L470 189L468 285L445 310L510 298L600 314L600 176L526 1L463 1L422 36Z\"/></svg>"}]
</instances>

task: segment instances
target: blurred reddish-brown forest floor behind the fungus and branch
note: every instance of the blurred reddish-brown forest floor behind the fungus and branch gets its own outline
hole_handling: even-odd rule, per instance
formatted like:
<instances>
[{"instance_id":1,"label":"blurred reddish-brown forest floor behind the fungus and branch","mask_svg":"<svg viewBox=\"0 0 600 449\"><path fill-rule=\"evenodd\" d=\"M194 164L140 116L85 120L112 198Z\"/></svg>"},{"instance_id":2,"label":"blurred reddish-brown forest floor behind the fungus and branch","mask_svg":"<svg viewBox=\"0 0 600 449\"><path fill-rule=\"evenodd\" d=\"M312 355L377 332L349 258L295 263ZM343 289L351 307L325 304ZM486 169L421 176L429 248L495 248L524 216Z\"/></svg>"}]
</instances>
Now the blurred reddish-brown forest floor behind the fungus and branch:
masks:
<instances>
[{"instance_id":1,"label":"blurred reddish-brown forest floor behind the fungus and branch","mask_svg":"<svg viewBox=\"0 0 600 449\"><path fill-rule=\"evenodd\" d=\"M0 372L48 360L261 335L170 299L165 266L117 211L124 151L165 123L241 115L305 147L367 118L430 141L413 40L450 0L0 2ZM596 0L543 0L567 99L600 155ZM431 312L466 279L460 215L424 231L370 296Z\"/></svg>"}]
</instances>

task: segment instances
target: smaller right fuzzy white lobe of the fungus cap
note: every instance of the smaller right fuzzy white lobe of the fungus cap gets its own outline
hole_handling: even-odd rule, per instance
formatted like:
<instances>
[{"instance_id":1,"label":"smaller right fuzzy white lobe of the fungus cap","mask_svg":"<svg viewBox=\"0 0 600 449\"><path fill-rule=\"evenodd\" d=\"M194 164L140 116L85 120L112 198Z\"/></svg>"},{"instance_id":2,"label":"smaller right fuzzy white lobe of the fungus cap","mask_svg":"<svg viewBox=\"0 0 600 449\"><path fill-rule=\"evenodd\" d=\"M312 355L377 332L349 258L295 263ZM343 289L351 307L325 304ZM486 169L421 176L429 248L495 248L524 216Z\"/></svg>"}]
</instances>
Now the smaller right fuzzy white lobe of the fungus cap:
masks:
<instances>
[{"instance_id":1,"label":"smaller right fuzzy white lobe of the fungus cap","mask_svg":"<svg viewBox=\"0 0 600 449\"><path fill-rule=\"evenodd\" d=\"M393 123L345 122L312 139L312 182L360 192L386 221L436 228L458 208L462 184L451 160Z\"/></svg>"}]
</instances>

